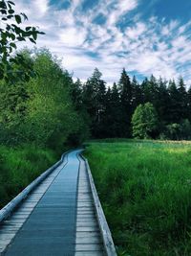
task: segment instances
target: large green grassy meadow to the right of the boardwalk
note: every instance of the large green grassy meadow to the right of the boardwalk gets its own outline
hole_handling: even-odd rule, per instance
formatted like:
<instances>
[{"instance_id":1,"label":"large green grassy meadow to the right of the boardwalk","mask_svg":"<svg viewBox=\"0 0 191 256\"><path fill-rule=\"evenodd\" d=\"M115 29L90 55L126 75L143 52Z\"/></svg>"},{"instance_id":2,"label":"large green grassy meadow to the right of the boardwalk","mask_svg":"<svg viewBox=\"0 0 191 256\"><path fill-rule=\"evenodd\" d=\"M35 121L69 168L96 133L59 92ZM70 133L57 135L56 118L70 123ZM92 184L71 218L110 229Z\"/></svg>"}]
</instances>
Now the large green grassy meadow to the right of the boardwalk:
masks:
<instances>
[{"instance_id":1,"label":"large green grassy meadow to the right of the boardwalk","mask_svg":"<svg viewBox=\"0 0 191 256\"><path fill-rule=\"evenodd\" d=\"M191 255L191 145L125 141L85 151L118 255Z\"/></svg>"}]
</instances>

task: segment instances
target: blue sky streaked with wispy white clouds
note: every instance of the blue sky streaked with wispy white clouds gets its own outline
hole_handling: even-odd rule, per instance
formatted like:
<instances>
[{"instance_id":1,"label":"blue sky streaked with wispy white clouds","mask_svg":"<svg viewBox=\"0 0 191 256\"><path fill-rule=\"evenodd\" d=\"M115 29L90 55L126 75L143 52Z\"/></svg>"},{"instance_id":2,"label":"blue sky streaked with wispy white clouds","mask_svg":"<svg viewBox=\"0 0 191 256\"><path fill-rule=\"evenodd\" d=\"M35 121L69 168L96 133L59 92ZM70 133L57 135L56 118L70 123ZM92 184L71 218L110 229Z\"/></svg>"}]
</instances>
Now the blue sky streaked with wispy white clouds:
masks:
<instances>
[{"instance_id":1,"label":"blue sky streaked with wispy white clouds","mask_svg":"<svg viewBox=\"0 0 191 256\"><path fill-rule=\"evenodd\" d=\"M138 81L152 74L191 85L190 0L16 0L26 26L38 26L37 47L62 59L74 79L97 67L118 81L122 68ZM22 45L23 46L23 45ZM28 44L32 47L32 44Z\"/></svg>"}]
</instances>

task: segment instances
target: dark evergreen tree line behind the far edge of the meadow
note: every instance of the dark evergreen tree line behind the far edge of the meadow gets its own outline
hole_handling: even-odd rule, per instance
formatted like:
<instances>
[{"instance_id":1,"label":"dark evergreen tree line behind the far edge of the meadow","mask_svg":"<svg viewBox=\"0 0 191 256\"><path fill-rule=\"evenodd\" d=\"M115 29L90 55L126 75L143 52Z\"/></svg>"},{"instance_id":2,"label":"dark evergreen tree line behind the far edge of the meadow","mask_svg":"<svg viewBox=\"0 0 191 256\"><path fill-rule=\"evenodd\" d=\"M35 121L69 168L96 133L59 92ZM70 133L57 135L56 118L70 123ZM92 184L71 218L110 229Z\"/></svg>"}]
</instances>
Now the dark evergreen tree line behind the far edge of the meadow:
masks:
<instances>
[{"instance_id":1,"label":"dark evergreen tree line behind the far edge of the meadow","mask_svg":"<svg viewBox=\"0 0 191 256\"><path fill-rule=\"evenodd\" d=\"M83 84L77 80L73 90L74 102L87 112L93 138L190 139L191 87L186 89L181 77L176 82L152 75L138 82L123 69L119 81L106 86L101 76L96 68Z\"/></svg>"}]
</instances>

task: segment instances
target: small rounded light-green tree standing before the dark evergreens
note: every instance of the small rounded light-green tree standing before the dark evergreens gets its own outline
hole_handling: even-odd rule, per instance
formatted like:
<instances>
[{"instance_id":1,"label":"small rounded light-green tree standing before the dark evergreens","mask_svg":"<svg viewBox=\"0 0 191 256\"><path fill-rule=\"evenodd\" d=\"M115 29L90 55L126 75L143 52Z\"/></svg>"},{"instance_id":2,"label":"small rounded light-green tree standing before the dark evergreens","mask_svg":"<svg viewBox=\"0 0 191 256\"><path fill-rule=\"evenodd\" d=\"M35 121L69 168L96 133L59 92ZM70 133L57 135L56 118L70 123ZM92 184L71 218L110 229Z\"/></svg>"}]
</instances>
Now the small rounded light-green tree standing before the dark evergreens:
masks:
<instances>
[{"instance_id":1,"label":"small rounded light-green tree standing before the dark evergreens","mask_svg":"<svg viewBox=\"0 0 191 256\"><path fill-rule=\"evenodd\" d=\"M133 117L133 136L139 139L151 138L158 128L158 114L155 107L147 103L138 105Z\"/></svg>"}]
</instances>

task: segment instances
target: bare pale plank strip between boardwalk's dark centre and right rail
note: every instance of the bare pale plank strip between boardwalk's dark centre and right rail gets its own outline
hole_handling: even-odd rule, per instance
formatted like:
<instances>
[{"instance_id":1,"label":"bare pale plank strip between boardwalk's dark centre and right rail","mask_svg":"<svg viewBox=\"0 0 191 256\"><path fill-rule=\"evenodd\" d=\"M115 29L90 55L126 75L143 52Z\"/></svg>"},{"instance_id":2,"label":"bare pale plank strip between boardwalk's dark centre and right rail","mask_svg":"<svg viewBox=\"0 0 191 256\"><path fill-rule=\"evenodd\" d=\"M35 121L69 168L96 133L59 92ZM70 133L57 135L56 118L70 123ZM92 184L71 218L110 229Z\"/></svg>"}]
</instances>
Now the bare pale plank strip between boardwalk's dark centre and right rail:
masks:
<instances>
[{"instance_id":1,"label":"bare pale plank strip between boardwalk's dark centre and right rail","mask_svg":"<svg viewBox=\"0 0 191 256\"><path fill-rule=\"evenodd\" d=\"M96 220L93 196L88 176L81 168L76 210L75 255L103 256L103 244Z\"/></svg>"}]
</instances>

